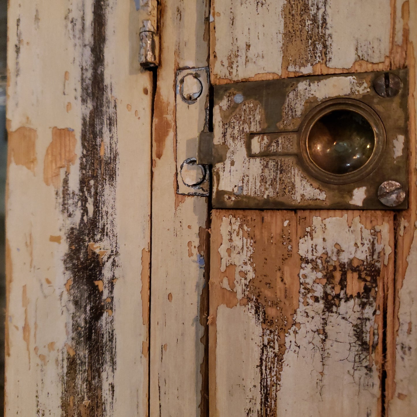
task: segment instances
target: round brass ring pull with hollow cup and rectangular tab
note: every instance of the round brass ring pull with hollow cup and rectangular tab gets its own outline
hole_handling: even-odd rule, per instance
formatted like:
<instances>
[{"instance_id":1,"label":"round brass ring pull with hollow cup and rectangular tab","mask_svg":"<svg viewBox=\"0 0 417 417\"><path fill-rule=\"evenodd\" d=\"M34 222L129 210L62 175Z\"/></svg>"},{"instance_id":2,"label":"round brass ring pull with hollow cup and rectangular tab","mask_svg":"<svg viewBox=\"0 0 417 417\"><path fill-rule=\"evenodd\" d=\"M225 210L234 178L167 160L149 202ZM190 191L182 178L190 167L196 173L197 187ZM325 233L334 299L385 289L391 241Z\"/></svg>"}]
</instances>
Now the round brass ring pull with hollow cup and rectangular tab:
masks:
<instances>
[{"instance_id":1,"label":"round brass ring pull with hollow cup and rectangular tab","mask_svg":"<svg viewBox=\"0 0 417 417\"><path fill-rule=\"evenodd\" d=\"M296 132L251 133L249 156L298 156L313 177L348 184L369 175L385 149L384 125L372 108L348 98L311 110Z\"/></svg>"}]
</instances>

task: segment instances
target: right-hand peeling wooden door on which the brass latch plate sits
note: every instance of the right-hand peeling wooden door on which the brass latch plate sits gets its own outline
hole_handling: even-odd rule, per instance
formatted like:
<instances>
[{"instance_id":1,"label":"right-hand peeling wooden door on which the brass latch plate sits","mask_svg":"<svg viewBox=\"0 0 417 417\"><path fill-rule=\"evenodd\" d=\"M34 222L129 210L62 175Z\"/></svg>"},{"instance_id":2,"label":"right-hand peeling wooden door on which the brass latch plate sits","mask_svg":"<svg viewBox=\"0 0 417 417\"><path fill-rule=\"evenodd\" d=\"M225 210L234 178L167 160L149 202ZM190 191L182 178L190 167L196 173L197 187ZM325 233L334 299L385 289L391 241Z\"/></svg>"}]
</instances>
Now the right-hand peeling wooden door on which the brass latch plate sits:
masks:
<instances>
[{"instance_id":1,"label":"right-hand peeling wooden door on which the brass latch plate sits","mask_svg":"<svg viewBox=\"0 0 417 417\"><path fill-rule=\"evenodd\" d=\"M410 70L408 210L212 211L211 416L416 413L415 290L414 280L407 282L416 211L408 23L414 8L415 2L398 1L211 4L214 84ZM356 77L349 79L350 93ZM332 97L337 80L292 83L283 120ZM246 157L244 145L243 154L233 148L232 141L260 130L269 109L242 94L234 99L232 90L222 90L223 99L214 94L214 143L229 149L214 168L215 202L233 206L240 199L236 206L245 207L248 198L279 197L278 181L295 206L324 201L323 189L295 166L262 165ZM342 90L336 94L348 94ZM362 200L354 204L362 208Z\"/></svg>"}]
</instances>

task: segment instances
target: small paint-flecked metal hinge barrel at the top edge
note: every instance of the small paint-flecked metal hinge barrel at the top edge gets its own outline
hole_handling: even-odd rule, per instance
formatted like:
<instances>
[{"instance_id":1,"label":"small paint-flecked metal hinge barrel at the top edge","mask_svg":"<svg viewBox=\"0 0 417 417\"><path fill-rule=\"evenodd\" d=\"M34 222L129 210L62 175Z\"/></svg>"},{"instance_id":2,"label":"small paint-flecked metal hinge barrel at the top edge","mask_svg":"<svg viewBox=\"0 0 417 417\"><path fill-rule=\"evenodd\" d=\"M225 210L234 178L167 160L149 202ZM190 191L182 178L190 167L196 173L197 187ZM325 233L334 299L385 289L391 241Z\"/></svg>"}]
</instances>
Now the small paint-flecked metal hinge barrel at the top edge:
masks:
<instances>
[{"instance_id":1,"label":"small paint-flecked metal hinge barrel at the top edge","mask_svg":"<svg viewBox=\"0 0 417 417\"><path fill-rule=\"evenodd\" d=\"M143 68L159 65L158 0L139 0L139 63Z\"/></svg>"}]
</instances>

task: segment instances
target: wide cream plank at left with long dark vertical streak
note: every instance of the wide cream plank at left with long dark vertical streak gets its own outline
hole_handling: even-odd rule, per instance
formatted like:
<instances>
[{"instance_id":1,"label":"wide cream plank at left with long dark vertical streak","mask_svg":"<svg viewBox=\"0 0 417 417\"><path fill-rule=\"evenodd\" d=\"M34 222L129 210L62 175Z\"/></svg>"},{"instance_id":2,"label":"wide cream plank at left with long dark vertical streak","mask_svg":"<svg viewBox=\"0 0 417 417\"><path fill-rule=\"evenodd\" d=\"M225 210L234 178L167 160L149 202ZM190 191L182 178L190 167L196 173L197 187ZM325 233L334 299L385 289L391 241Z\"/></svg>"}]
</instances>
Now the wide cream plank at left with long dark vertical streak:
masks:
<instances>
[{"instance_id":1,"label":"wide cream plank at left with long dark vertical streak","mask_svg":"<svg viewBox=\"0 0 417 417\"><path fill-rule=\"evenodd\" d=\"M8 24L5 415L145 416L152 75L135 5L23 0Z\"/></svg>"}]
</instances>

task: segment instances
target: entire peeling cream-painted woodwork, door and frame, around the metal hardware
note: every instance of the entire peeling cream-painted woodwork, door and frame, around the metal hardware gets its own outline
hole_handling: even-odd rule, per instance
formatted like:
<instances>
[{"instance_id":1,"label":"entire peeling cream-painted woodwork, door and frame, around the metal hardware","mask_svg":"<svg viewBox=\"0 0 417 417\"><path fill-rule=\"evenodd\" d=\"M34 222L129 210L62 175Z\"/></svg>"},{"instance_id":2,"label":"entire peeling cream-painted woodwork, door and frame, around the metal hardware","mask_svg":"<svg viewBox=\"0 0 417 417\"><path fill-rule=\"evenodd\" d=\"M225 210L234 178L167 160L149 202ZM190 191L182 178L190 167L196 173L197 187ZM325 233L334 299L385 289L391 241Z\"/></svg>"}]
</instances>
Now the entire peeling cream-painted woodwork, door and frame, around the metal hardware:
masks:
<instances>
[{"instance_id":1,"label":"entire peeling cream-painted woodwork, door and frame, around the metal hardware","mask_svg":"<svg viewBox=\"0 0 417 417\"><path fill-rule=\"evenodd\" d=\"M10 2L6 416L414 416L416 2L161 0L153 72L146 3ZM198 126L247 126L179 108L178 71L406 67L407 210L180 193Z\"/></svg>"}]
</instances>

